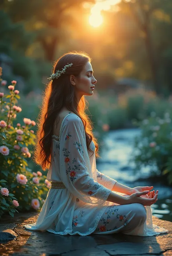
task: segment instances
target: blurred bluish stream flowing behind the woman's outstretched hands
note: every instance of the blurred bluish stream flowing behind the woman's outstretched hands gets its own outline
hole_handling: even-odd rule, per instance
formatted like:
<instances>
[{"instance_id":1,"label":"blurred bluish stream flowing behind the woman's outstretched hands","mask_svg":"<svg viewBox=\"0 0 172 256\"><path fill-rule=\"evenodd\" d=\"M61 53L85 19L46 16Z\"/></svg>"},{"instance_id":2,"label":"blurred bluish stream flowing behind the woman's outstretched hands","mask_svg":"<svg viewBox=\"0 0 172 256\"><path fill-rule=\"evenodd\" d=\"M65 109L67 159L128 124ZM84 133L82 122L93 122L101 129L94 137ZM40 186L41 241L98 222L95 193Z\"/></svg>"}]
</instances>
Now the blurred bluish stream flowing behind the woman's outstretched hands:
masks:
<instances>
[{"instance_id":1,"label":"blurred bluish stream flowing behind the woman's outstretched hands","mask_svg":"<svg viewBox=\"0 0 172 256\"><path fill-rule=\"evenodd\" d=\"M172 222L172 188L167 184L149 181L150 166L143 167L134 173L134 162L129 163L131 153L134 150L135 136L140 135L139 129L124 129L108 132L104 139L104 145L100 145L100 157L96 160L97 169L100 172L117 180L128 187L153 186L158 190L158 200L152 204L152 215ZM158 170L157 170L158 171ZM139 178L143 180L140 181Z\"/></svg>"}]
</instances>

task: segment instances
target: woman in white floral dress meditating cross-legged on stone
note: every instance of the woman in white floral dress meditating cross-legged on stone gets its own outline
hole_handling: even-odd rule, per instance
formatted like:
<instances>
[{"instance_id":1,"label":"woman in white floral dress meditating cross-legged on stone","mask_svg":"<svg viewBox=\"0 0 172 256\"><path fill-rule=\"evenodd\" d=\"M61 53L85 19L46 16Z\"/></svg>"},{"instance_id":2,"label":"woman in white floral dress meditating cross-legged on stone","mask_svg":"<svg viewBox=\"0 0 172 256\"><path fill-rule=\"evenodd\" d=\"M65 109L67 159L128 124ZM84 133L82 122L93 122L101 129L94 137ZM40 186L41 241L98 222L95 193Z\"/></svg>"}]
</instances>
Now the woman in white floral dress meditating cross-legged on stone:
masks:
<instances>
[{"instance_id":1,"label":"woman in white floral dress meditating cross-legged on stone","mask_svg":"<svg viewBox=\"0 0 172 256\"><path fill-rule=\"evenodd\" d=\"M85 98L97 80L91 58L69 52L54 64L41 108L34 160L52 183L30 230L81 236L125 233L139 236L168 232L152 225L151 204L158 191L130 188L96 168L97 139L85 114ZM113 192L115 191L115 192Z\"/></svg>"}]
</instances>

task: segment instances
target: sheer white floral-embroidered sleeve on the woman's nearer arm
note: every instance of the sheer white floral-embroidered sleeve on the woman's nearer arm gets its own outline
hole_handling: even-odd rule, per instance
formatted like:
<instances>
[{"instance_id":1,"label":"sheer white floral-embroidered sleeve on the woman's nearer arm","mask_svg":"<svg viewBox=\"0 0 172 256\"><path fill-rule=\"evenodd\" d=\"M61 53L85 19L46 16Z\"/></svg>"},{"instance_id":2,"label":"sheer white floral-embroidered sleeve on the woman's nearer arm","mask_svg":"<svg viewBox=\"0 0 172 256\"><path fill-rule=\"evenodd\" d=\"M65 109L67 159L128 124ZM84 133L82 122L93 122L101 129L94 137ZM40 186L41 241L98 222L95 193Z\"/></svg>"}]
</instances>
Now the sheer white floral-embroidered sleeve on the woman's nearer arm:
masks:
<instances>
[{"instance_id":1,"label":"sheer white floral-embroidered sleeve on the woman's nearer arm","mask_svg":"<svg viewBox=\"0 0 172 256\"><path fill-rule=\"evenodd\" d=\"M91 204L106 204L111 190L92 178L81 118L71 114L65 119L60 138L60 178L75 197ZM106 202L106 203L105 203Z\"/></svg>"}]
</instances>

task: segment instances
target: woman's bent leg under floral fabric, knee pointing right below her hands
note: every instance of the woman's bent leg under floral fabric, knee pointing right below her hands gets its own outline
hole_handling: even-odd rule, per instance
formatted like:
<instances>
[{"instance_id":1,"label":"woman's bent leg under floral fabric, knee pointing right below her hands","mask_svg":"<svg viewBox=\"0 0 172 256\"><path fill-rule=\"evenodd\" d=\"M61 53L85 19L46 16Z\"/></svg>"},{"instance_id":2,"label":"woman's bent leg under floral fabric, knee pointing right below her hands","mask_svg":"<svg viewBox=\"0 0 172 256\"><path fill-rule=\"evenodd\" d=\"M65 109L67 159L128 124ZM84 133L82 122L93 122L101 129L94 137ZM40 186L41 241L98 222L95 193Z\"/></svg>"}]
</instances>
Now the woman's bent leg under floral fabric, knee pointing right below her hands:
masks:
<instances>
[{"instance_id":1,"label":"woman's bent leg under floral fabric, knee pointing right below her hands","mask_svg":"<svg viewBox=\"0 0 172 256\"><path fill-rule=\"evenodd\" d=\"M108 206L93 233L110 231L109 233L127 234L144 224L146 218L146 209L140 203Z\"/></svg>"}]
</instances>

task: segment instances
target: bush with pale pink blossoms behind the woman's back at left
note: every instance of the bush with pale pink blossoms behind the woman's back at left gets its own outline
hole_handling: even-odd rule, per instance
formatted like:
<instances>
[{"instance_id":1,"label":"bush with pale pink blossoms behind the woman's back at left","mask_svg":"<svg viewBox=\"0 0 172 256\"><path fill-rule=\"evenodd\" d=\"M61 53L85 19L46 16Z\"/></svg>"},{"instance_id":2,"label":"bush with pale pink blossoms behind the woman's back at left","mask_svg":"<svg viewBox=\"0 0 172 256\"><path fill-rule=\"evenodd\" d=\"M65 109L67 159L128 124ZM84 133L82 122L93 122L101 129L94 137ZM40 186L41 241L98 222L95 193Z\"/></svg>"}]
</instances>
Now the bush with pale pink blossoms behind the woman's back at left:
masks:
<instances>
[{"instance_id":1,"label":"bush with pale pink blossoms behind the woman's back at left","mask_svg":"<svg viewBox=\"0 0 172 256\"><path fill-rule=\"evenodd\" d=\"M0 68L0 76L1 73ZM17 106L20 96L16 83L13 80L8 86L9 94L0 92L0 218L7 212L13 217L18 211L40 210L50 188L42 172L28 168L32 154L29 146L35 145L32 127L36 122L24 118L24 125L13 126L17 113L22 111ZM0 84L6 86L7 81L0 78Z\"/></svg>"}]
</instances>

